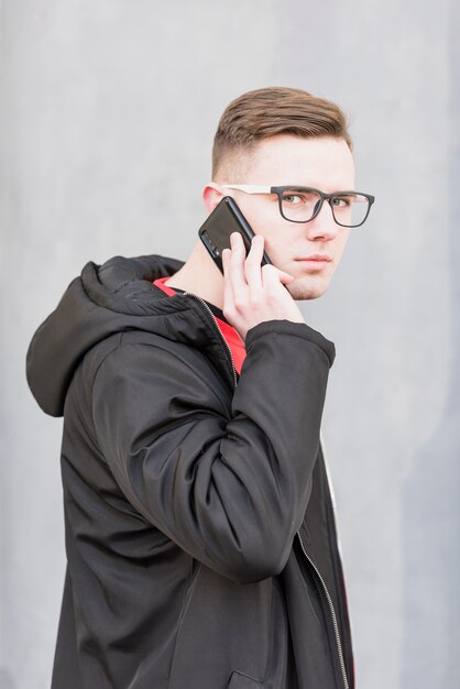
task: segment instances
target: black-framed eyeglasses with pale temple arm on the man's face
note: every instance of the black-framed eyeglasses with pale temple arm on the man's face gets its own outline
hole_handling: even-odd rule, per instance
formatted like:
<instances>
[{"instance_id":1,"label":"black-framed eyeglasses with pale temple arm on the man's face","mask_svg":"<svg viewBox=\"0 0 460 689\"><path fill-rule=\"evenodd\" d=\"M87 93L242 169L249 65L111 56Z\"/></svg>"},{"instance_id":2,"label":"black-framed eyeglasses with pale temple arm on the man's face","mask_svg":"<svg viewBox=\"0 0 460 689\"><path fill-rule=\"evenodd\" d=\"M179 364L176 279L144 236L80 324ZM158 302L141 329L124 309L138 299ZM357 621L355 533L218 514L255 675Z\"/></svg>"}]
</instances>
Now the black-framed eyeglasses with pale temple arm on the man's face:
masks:
<instances>
[{"instance_id":1,"label":"black-framed eyeglasses with pale temple arm on the man's face","mask_svg":"<svg viewBox=\"0 0 460 689\"><path fill-rule=\"evenodd\" d=\"M222 184L220 186L244 192L244 194L276 194L280 212L289 222L309 222L316 218L327 200L337 225L360 227L365 222L375 200L374 196L361 192L325 194L313 187L300 186L269 187L256 184Z\"/></svg>"}]
</instances>

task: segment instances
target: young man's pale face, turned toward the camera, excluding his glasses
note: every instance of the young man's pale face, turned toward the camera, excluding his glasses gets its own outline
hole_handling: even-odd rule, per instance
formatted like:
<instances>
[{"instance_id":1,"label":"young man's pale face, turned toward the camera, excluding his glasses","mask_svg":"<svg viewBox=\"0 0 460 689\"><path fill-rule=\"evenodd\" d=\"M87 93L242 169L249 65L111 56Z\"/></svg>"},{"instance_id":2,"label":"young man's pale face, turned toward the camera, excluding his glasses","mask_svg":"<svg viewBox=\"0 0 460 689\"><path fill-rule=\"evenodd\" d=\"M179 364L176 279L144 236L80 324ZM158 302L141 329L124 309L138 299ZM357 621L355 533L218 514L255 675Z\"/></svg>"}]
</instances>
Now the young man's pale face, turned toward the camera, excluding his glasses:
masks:
<instances>
[{"instance_id":1,"label":"young man's pale face, turned toward the camera, excluding his glasses","mask_svg":"<svg viewBox=\"0 0 460 689\"><path fill-rule=\"evenodd\" d=\"M341 139L300 139L280 135L265 139L249 156L240 184L307 186L325 193L354 188L353 157ZM226 179L228 184L234 179ZM276 195L250 195L226 190L234 197L274 265L294 276L288 286L295 299L315 299L329 286L340 262L350 229L337 225L325 201L309 222L289 222L278 209ZM324 260L321 260L324 258Z\"/></svg>"}]
</instances>

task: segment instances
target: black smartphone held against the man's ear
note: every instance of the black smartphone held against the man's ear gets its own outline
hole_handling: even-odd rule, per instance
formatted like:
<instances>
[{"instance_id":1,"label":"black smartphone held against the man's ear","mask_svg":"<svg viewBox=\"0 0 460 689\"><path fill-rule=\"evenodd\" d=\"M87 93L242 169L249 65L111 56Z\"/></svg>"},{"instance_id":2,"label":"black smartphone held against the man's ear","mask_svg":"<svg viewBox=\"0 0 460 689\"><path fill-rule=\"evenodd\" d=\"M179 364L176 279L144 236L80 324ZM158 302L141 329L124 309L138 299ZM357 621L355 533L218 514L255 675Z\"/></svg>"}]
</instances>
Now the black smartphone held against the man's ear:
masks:
<instances>
[{"instance_id":1,"label":"black smartphone held against the man's ear","mask_svg":"<svg viewBox=\"0 0 460 689\"><path fill-rule=\"evenodd\" d=\"M222 251L230 249L230 234L232 232L241 234L248 253L254 232L237 201L231 196L224 196L198 230L198 237L221 273L223 273ZM261 265L266 263L272 263L272 261L264 251Z\"/></svg>"}]
</instances>

